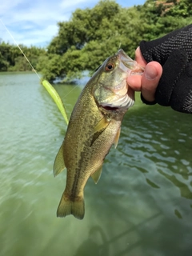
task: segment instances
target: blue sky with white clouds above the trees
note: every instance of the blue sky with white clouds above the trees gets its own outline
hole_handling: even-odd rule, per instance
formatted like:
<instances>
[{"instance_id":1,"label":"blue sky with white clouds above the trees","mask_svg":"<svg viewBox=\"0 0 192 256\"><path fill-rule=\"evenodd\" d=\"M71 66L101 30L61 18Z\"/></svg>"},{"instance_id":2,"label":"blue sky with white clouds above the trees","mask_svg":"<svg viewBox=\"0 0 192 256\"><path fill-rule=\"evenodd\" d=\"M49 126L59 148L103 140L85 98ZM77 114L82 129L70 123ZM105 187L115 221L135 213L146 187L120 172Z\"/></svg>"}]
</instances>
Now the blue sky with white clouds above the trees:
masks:
<instances>
[{"instance_id":1,"label":"blue sky with white clouds above the trees","mask_svg":"<svg viewBox=\"0 0 192 256\"><path fill-rule=\"evenodd\" d=\"M116 0L120 6L142 5L146 0ZM92 8L98 0L5 0L0 18L18 44L47 46L58 33L57 22L69 20L77 8ZM14 43L0 22L0 39Z\"/></svg>"}]
</instances>

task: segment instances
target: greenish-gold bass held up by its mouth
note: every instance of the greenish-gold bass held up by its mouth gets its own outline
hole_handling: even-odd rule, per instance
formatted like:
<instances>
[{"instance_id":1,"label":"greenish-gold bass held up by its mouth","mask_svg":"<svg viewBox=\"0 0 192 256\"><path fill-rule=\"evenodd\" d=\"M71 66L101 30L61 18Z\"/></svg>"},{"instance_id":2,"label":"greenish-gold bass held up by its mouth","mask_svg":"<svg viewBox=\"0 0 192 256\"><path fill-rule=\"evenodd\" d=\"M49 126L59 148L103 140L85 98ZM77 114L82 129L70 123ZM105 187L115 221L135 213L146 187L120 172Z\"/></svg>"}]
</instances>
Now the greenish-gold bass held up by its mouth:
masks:
<instances>
[{"instance_id":1,"label":"greenish-gold bass held up by its mouth","mask_svg":"<svg viewBox=\"0 0 192 256\"><path fill-rule=\"evenodd\" d=\"M106 155L113 144L118 145L122 119L134 105L126 78L142 72L120 49L102 63L82 90L54 161L54 176L66 169L66 188L57 217L72 214L84 218L86 182L91 177L98 183Z\"/></svg>"}]
</instances>

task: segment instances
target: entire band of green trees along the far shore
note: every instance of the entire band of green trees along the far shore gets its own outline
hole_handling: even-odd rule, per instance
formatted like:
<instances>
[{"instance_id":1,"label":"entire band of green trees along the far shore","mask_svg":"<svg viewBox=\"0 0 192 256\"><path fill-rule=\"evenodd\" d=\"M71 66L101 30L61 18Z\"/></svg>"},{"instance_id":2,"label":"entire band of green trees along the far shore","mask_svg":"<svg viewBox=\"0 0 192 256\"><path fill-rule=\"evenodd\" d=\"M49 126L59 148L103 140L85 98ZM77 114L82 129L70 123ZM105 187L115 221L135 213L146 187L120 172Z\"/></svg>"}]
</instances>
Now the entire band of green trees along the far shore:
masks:
<instances>
[{"instance_id":1,"label":"entire band of green trees along the far shore","mask_svg":"<svg viewBox=\"0 0 192 256\"><path fill-rule=\"evenodd\" d=\"M146 0L142 6L122 8L114 0L101 0L94 8L77 9L67 22L58 22L58 35L47 50L22 46L35 69L54 82L80 78L93 72L122 48L134 58L142 40L162 37L191 23L191 0ZM16 46L0 44L0 70L31 70Z\"/></svg>"}]
</instances>

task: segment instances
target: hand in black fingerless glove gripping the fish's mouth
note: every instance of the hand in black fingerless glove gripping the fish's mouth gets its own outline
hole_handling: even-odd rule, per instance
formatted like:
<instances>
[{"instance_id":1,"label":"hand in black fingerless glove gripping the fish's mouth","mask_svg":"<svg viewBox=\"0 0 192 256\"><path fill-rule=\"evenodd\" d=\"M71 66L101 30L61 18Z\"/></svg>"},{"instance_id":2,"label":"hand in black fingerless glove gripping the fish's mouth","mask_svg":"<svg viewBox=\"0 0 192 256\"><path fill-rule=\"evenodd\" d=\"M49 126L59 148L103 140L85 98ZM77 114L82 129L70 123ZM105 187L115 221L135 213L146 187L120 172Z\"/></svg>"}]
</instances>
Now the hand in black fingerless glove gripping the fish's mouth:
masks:
<instances>
[{"instance_id":1,"label":"hand in black fingerless glove gripping the fish's mouth","mask_svg":"<svg viewBox=\"0 0 192 256\"><path fill-rule=\"evenodd\" d=\"M138 49L136 60L146 69L141 78L127 78L129 90L140 90L146 104L157 102L192 114L192 24L162 38L142 41Z\"/></svg>"}]
</instances>

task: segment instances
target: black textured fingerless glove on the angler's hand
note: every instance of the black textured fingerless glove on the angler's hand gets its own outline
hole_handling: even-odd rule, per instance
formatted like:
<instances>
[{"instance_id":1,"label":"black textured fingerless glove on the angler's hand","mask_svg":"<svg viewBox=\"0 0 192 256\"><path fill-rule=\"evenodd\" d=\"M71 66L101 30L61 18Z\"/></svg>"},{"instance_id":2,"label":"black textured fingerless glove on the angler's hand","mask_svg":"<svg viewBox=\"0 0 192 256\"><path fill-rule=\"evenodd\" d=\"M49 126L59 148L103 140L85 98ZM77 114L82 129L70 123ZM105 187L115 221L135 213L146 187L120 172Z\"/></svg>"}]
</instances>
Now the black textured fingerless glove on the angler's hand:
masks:
<instances>
[{"instance_id":1,"label":"black textured fingerless glove on the angler's hand","mask_svg":"<svg viewBox=\"0 0 192 256\"><path fill-rule=\"evenodd\" d=\"M192 24L156 40L140 43L146 62L162 65L155 101L146 104L171 106L174 110L192 114Z\"/></svg>"}]
</instances>

